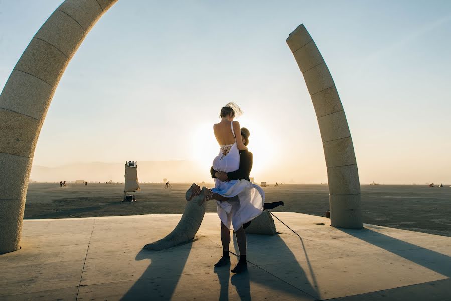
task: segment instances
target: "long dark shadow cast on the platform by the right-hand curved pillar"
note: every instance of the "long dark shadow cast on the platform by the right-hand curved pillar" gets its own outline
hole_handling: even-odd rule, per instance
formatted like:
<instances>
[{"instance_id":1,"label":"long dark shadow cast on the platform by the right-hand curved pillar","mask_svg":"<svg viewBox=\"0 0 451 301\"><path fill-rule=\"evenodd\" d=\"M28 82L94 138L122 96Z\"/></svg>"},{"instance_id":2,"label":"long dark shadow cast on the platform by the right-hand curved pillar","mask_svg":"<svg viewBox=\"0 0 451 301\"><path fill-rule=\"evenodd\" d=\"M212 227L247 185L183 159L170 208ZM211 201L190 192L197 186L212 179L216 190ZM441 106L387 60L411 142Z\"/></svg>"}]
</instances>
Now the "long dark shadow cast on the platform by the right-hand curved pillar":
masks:
<instances>
[{"instance_id":1,"label":"long dark shadow cast on the platform by the right-hand curved pillar","mask_svg":"<svg viewBox=\"0 0 451 301\"><path fill-rule=\"evenodd\" d=\"M370 229L340 229L351 236L387 250L446 277L451 277L451 257ZM365 235L362 235L362 232Z\"/></svg>"}]
</instances>

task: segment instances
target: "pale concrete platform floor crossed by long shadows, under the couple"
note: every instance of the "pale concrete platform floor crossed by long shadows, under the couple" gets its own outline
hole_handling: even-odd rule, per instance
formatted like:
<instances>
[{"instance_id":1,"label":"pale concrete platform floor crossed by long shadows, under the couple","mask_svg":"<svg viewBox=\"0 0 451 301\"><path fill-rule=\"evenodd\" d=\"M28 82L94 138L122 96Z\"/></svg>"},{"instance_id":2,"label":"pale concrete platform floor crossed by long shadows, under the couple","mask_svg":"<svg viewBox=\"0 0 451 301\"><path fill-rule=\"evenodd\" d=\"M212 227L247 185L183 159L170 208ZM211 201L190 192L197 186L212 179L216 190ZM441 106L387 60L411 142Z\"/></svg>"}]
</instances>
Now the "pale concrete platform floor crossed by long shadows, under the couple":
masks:
<instances>
[{"instance_id":1,"label":"pale concrete platform floor crossed by long shadows, under the couple","mask_svg":"<svg viewBox=\"0 0 451 301\"><path fill-rule=\"evenodd\" d=\"M451 237L278 212L279 235L248 235L247 273L213 269L219 219L195 240L141 249L180 214L25 220L22 249L0 255L1 300L449 300ZM238 254L236 243L231 250ZM232 255L232 267L237 257Z\"/></svg>"}]
</instances>

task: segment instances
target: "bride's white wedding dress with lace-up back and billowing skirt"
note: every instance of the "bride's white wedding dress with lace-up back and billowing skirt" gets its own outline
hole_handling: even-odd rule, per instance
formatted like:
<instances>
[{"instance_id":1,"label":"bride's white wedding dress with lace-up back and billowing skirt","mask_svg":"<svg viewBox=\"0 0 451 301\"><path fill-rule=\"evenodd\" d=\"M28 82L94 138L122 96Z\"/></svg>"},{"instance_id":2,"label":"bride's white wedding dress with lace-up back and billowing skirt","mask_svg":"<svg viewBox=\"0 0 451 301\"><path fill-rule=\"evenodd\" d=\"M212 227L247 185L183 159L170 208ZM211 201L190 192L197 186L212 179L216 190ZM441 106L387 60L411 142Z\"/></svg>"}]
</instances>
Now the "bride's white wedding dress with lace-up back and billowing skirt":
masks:
<instances>
[{"instance_id":1,"label":"bride's white wedding dress with lace-up back and billowing skirt","mask_svg":"<svg viewBox=\"0 0 451 301\"><path fill-rule=\"evenodd\" d=\"M233 124L230 122L233 136ZM219 172L233 172L239 168L240 153L235 143L221 145L219 155L213 160L213 169ZM265 194L263 189L247 180L220 181L215 178L214 193L230 198L217 201L218 216L227 228L238 230L244 223L254 219L263 212Z\"/></svg>"}]
</instances>

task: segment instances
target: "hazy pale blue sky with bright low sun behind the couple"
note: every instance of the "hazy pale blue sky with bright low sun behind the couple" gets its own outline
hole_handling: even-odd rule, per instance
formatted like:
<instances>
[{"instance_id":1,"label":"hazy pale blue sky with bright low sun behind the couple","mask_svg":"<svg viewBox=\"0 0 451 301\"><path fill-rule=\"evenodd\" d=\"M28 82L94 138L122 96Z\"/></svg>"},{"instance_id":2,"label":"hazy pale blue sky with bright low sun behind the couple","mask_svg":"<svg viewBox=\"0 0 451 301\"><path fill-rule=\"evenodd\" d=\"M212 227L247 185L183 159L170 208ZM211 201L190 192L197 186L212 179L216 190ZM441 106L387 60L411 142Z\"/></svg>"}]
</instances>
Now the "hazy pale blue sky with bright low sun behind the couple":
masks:
<instances>
[{"instance_id":1,"label":"hazy pale blue sky with bright low sun behind the couple","mask_svg":"<svg viewBox=\"0 0 451 301\"><path fill-rule=\"evenodd\" d=\"M60 3L0 0L0 88ZM337 85L361 183L451 183L446 0L120 0L67 67L34 164L185 159L208 179L212 124L234 101L257 181L327 181L315 112L285 43L300 23Z\"/></svg>"}]
</instances>

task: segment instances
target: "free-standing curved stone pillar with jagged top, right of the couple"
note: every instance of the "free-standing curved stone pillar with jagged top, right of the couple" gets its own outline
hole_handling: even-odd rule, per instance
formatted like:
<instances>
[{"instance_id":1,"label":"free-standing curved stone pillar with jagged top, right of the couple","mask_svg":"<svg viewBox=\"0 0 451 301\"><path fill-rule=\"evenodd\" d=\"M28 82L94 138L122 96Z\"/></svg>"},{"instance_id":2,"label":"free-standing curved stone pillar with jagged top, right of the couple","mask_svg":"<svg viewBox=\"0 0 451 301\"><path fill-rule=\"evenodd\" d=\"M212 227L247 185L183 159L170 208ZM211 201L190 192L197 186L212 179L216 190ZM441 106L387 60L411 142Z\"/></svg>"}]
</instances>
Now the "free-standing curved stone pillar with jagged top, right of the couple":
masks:
<instances>
[{"instance_id":1,"label":"free-standing curved stone pillar with jagged top, right of the couple","mask_svg":"<svg viewBox=\"0 0 451 301\"><path fill-rule=\"evenodd\" d=\"M320 127L329 182L331 225L362 228L359 172L337 88L303 24L288 36L286 43L304 76Z\"/></svg>"}]
</instances>

